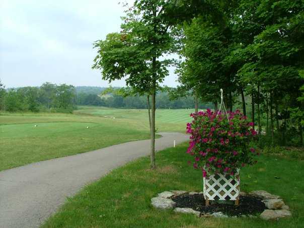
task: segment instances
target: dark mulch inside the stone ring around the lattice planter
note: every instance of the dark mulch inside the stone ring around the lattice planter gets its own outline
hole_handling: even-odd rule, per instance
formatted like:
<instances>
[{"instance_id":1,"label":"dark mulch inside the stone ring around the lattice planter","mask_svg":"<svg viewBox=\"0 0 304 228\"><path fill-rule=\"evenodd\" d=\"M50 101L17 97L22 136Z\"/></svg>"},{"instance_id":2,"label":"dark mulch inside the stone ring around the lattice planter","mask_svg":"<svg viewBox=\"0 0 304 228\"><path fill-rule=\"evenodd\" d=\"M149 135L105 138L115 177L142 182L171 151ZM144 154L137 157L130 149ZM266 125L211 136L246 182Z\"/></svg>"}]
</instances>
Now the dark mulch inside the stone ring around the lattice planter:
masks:
<instances>
[{"instance_id":1,"label":"dark mulch inside the stone ring around the lattice planter","mask_svg":"<svg viewBox=\"0 0 304 228\"><path fill-rule=\"evenodd\" d=\"M175 207L192 208L193 210L202 212L202 214L212 214L221 211L228 216L257 215L266 209L265 204L261 201L262 199L250 195L240 196L238 206L226 203L212 203L209 206L205 206L203 194L183 194L172 197L172 200L176 202Z\"/></svg>"}]
</instances>

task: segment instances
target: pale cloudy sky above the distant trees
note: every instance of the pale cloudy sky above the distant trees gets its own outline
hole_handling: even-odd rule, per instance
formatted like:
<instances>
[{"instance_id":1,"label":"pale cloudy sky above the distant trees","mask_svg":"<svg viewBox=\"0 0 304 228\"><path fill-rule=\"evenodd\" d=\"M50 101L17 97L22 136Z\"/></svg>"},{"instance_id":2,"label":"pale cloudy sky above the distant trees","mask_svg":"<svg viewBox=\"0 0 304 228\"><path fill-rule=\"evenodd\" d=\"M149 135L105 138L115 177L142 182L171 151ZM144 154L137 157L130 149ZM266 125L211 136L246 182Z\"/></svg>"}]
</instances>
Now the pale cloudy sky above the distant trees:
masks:
<instances>
[{"instance_id":1,"label":"pale cloudy sky above the distant trees","mask_svg":"<svg viewBox=\"0 0 304 228\"><path fill-rule=\"evenodd\" d=\"M44 82L107 87L101 73L91 68L96 56L92 44L120 31L120 1L0 0L2 83L6 88ZM164 84L176 87L176 79L171 68Z\"/></svg>"}]
</instances>

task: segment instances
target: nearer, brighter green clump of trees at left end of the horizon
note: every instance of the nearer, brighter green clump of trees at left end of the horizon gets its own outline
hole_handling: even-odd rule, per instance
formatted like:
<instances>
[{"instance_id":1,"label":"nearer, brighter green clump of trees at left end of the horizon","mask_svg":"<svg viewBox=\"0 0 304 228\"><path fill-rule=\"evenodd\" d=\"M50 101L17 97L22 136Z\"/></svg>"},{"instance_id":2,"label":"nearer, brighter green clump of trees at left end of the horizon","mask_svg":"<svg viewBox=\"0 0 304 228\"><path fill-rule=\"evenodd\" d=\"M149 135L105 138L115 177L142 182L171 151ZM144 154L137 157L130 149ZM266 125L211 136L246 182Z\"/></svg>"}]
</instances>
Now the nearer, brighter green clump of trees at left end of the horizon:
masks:
<instances>
[{"instance_id":1,"label":"nearer, brighter green clump of trees at left end of the horizon","mask_svg":"<svg viewBox=\"0 0 304 228\"><path fill-rule=\"evenodd\" d=\"M44 83L41 87L6 90L0 83L0 109L8 112L51 111L70 113L75 109L75 88Z\"/></svg>"}]
</instances>

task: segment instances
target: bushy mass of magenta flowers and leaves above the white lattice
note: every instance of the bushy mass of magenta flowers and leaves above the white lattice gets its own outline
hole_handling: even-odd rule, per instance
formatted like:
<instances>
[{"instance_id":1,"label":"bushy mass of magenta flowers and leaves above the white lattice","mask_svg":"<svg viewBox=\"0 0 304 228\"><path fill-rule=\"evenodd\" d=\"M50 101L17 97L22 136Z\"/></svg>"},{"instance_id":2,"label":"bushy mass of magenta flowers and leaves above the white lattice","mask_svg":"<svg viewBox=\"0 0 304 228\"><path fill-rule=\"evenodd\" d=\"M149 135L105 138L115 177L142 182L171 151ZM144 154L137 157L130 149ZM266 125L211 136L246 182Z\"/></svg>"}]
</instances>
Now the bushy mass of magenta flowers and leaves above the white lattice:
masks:
<instances>
[{"instance_id":1,"label":"bushy mass of magenta flowers and leaves above the white lattice","mask_svg":"<svg viewBox=\"0 0 304 228\"><path fill-rule=\"evenodd\" d=\"M203 177L216 173L235 176L242 167L256 163L258 153L250 146L256 131L239 110L226 115L207 109L190 116L187 153L194 157L193 167L201 169Z\"/></svg>"}]
</instances>

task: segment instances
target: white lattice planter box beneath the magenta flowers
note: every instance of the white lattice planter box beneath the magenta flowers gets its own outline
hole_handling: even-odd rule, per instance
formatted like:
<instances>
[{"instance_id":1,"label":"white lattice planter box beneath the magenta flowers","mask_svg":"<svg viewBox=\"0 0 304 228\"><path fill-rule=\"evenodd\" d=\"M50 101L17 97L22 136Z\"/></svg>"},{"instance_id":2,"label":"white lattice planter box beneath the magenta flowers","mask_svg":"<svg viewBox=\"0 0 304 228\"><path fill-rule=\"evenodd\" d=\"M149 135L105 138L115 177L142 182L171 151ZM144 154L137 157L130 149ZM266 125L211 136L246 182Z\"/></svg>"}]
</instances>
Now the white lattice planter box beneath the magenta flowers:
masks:
<instances>
[{"instance_id":1,"label":"white lattice planter box beneath the magenta flowers","mask_svg":"<svg viewBox=\"0 0 304 228\"><path fill-rule=\"evenodd\" d=\"M235 200L235 204L239 205L240 194L240 176L235 179L222 174L213 174L203 178L204 181L204 197L206 205L209 200Z\"/></svg>"}]
</instances>

